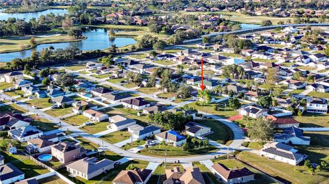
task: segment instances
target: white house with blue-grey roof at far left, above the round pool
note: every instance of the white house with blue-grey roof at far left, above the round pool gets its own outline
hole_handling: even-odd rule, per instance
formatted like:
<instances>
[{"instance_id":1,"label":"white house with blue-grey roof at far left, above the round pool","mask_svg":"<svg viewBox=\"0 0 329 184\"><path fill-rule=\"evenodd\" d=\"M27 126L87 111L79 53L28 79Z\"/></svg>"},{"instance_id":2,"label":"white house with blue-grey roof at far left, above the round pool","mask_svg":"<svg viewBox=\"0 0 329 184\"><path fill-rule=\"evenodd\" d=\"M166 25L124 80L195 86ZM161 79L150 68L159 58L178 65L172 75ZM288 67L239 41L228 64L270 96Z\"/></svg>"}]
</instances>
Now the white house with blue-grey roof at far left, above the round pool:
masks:
<instances>
[{"instance_id":1,"label":"white house with blue-grey roof at far left, above the round pool","mask_svg":"<svg viewBox=\"0 0 329 184\"><path fill-rule=\"evenodd\" d=\"M20 142L27 142L28 140L33 140L34 138L42 136L42 134L42 131L30 125L8 131L8 135L10 137L15 140L19 140Z\"/></svg>"}]
</instances>

